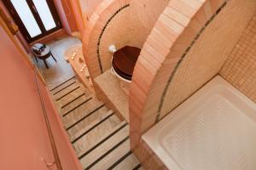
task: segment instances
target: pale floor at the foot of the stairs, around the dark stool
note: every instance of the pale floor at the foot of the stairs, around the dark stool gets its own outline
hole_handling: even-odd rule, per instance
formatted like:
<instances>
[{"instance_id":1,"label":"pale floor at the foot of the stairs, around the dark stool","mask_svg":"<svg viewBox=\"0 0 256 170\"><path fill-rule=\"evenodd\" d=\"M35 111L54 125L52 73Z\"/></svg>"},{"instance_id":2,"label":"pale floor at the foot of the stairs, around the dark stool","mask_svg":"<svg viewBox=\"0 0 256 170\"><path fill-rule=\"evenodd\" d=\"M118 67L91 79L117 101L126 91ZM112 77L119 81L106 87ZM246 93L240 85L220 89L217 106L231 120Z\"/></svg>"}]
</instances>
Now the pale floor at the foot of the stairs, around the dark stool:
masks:
<instances>
[{"instance_id":1,"label":"pale floor at the foot of the stairs, around the dark stool","mask_svg":"<svg viewBox=\"0 0 256 170\"><path fill-rule=\"evenodd\" d=\"M44 62L41 59L38 59L37 65L49 88L54 88L56 85L74 76L72 67L64 59L64 54L68 47L80 43L80 40L75 37L61 37L47 43L57 62L49 57L47 59L49 69L45 68Z\"/></svg>"}]
</instances>

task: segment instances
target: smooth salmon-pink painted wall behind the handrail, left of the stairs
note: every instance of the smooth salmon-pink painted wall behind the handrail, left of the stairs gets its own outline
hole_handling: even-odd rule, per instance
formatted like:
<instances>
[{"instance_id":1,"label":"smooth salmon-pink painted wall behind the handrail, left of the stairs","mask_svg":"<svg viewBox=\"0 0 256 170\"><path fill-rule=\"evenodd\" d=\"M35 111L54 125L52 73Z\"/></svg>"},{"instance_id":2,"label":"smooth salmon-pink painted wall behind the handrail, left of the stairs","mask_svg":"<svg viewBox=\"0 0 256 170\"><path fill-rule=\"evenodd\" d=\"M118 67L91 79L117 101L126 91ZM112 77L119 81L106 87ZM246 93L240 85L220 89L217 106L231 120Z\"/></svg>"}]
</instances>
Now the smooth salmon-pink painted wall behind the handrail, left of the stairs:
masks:
<instances>
[{"instance_id":1,"label":"smooth salmon-pink painted wall behind the handrail, left of the stairs","mask_svg":"<svg viewBox=\"0 0 256 170\"><path fill-rule=\"evenodd\" d=\"M0 27L0 169L46 170L54 161L32 70ZM41 83L63 169L81 169Z\"/></svg>"}]
</instances>

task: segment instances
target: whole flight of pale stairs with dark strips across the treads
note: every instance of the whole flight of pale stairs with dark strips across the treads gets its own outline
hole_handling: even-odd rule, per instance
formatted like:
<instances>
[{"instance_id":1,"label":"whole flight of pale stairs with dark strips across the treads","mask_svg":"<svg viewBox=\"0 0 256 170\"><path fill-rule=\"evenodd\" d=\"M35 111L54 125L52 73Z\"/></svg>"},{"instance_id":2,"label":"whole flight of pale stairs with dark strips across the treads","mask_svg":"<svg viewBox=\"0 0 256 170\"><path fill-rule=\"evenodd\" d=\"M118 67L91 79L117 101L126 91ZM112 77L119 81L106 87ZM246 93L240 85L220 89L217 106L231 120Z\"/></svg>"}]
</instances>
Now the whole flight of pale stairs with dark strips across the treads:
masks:
<instances>
[{"instance_id":1,"label":"whole flight of pale stairs with dark strips across the treads","mask_svg":"<svg viewBox=\"0 0 256 170\"><path fill-rule=\"evenodd\" d=\"M143 169L130 150L128 122L75 77L50 92L83 169Z\"/></svg>"}]
</instances>

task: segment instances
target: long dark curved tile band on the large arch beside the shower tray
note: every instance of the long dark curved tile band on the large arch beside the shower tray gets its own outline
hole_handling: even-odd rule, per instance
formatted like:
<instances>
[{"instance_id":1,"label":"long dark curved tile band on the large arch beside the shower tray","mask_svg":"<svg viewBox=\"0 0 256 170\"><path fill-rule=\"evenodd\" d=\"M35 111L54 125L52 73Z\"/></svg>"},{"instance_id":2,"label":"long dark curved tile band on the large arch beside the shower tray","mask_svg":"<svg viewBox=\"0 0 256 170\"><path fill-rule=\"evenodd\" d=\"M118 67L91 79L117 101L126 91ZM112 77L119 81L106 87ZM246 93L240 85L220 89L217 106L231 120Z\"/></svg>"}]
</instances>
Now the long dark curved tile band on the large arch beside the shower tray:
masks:
<instances>
[{"instance_id":1,"label":"long dark curved tile band on the large arch beside the shower tray","mask_svg":"<svg viewBox=\"0 0 256 170\"><path fill-rule=\"evenodd\" d=\"M194 37L194 40L190 43L189 47L185 50L185 52L183 53L183 55L181 56L181 58L177 61L177 65L175 65L174 70L172 71L171 76L169 77L168 81L166 82L166 86L164 89L163 94L161 95L161 99L160 99L160 105L157 111L157 116L155 118L155 122L159 122L160 121L160 112L162 111L162 107L164 105L164 101L166 99L166 93L168 91L168 88L172 82L173 77L175 76L175 73L177 72L178 67L181 65L181 63L183 62L183 59L187 56L187 54L189 53L190 49L193 47L193 45L195 44L195 42L198 40L198 38L201 36L201 34L203 33L203 31L206 30L207 26L209 26L209 24L212 22L212 20L214 20L214 18L219 14L219 12L226 6L227 1L225 1L217 10L214 14L212 14L212 17L207 20L205 26L203 26L201 28L201 30L197 33L197 35Z\"/></svg>"}]
</instances>

